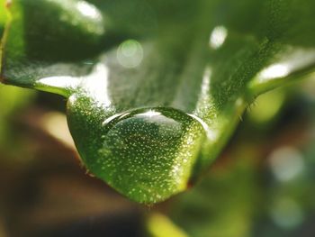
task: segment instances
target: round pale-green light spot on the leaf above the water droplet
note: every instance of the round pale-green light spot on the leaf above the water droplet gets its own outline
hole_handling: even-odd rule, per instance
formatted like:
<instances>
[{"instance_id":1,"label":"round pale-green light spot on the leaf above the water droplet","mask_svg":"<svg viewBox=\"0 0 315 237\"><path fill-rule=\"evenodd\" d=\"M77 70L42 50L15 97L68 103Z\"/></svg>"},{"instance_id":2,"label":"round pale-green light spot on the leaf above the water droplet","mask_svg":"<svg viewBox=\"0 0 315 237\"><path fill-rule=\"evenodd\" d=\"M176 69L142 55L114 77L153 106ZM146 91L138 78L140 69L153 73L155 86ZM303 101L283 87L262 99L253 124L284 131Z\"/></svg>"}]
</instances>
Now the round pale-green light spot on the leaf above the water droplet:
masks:
<instances>
[{"instance_id":1,"label":"round pale-green light spot on the leaf above the water droplet","mask_svg":"<svg viewBox=\"0 0 315 237\"><path fill-rule=\"evenodd\" d=\"M143 59L143 49L139 41L123 41L117 50L118 62L124 68L136 68Z\"/></svg>"}]
</instances>

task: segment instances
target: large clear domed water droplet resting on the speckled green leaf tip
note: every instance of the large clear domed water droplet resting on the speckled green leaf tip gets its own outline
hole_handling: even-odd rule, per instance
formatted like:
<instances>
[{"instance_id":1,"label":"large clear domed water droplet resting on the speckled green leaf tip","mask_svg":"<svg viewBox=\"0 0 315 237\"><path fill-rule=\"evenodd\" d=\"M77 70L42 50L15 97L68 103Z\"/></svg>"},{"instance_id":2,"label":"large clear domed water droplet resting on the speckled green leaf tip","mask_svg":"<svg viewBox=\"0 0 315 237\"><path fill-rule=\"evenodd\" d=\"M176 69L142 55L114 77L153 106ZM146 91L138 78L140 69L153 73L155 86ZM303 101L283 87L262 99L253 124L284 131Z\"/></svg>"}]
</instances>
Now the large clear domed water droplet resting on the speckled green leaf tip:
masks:
<instances>
[{"instance_id":1,"label":"large clear domed water droplet resting on the speckled green leaf tip","mask_svg":"<svg viewBox=\"0 0 315 237\"><path fill-rule=\"evenodd\" d=\"M69 119L75 140L81 136L76 145L85 166L122 194L147 204L186 189L207 137L198 120L174 108L141 108L95 123L92 131ZM89 128L85 137L74 131L84 127Z\"/></svg>"}]
</instances>

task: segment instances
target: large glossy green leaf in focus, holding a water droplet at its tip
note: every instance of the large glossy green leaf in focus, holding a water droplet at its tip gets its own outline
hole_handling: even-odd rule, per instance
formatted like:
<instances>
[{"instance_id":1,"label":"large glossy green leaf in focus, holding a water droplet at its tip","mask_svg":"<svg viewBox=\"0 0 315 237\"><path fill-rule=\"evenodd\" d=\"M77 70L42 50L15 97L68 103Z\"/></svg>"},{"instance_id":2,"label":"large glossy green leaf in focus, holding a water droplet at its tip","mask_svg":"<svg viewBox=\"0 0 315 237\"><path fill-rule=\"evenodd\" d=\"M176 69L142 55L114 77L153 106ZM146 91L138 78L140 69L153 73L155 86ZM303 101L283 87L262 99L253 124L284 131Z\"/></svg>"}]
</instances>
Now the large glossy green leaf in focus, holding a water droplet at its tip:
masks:
<instances>
[{"instance_id":1,"label":"large glossy green leaf in focus, holding a water droplet at its tip","mask_svg":"<svg viewBox=\"0 0 315 237\"><path fill-rule=\"evenodd\" d=\"M15 0L1 77L66 96L85 167L152 204L209 167L257 96L313 71L314 7Z\"/></svg>"}]
</instances>

